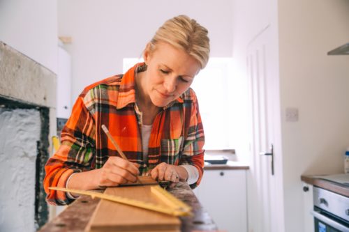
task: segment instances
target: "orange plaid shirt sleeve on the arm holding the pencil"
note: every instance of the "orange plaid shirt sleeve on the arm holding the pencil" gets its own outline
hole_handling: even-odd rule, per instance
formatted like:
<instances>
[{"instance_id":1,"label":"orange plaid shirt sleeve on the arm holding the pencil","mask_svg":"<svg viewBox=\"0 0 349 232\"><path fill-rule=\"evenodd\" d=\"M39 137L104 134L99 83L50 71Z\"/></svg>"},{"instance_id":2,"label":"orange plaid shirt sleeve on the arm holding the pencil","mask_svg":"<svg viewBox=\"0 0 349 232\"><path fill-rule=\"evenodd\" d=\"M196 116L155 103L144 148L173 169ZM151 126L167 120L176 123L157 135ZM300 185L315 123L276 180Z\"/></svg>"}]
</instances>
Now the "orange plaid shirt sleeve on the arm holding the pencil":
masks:
<instances>
[{"instance_id":1,"label":"orange plaid shirt sleeve on the arm holding the pencil","mask_svg":"<svg viewBox=\"0 0 349 232\"><path fill-rule=\"evenodd\" d=\"M66 187L66 181L72 173L91 169L95 150L94 134L94 118L80 96L61 132L61 146L45 164L46 176L43 185L48 203L66 205L74 200L65 192L48 188Z\"/></svg>"}]
</instances>

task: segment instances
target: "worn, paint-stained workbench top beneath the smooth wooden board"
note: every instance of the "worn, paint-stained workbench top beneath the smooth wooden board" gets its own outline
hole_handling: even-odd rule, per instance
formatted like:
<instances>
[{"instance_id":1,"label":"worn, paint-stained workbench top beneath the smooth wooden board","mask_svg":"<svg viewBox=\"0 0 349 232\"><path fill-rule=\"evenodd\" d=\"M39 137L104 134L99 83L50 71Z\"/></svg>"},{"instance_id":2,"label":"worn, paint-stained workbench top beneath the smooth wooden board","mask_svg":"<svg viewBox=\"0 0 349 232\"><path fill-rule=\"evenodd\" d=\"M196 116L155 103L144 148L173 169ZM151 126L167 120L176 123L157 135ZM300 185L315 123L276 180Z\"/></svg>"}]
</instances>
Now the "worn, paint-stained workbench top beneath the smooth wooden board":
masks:
<instances>
[{"instance_id":1,"label":"worn, paint-stained workbench top beneath the smooth wooden board","mask_svg":"<svg viewBox=\"0 0 349 232\"><path fill-rule=\"evenodd\" d=\"M200 202L187 183L178 183L176 187L169 189L181 201L193 208L193 217L179 217L181 220L181 231L217 231L217 226L202 208ZM91 199L89 196L80 196L68 206L57 217L47 222L39 231L84 231L91 216L101 199Z\"/></svg>"}]
</instances>

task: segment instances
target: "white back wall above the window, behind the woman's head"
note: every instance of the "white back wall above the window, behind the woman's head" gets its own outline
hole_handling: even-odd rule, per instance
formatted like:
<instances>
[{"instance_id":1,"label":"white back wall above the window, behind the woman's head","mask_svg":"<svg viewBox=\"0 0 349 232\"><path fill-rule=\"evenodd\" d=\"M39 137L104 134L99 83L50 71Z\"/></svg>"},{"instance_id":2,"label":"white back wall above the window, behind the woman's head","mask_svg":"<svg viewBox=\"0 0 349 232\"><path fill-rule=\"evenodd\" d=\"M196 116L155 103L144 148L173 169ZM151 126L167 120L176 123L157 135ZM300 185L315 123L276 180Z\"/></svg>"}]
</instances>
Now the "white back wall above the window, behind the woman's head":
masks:
<instances>
[{"instance_id":1,"label":"white back wall above the window, behind the woman's head","mask_svg":"<svg viewBox=\"0 0 349 232\"><path fill-rule=\"evenodd\" d=\"M209 29L211 56L231 56L230 0L58 1L59 36L72 56L72 101L82 89L122 72L122 59L140 57L165 20L186 14Z\"/></svg>"}]
</instances>

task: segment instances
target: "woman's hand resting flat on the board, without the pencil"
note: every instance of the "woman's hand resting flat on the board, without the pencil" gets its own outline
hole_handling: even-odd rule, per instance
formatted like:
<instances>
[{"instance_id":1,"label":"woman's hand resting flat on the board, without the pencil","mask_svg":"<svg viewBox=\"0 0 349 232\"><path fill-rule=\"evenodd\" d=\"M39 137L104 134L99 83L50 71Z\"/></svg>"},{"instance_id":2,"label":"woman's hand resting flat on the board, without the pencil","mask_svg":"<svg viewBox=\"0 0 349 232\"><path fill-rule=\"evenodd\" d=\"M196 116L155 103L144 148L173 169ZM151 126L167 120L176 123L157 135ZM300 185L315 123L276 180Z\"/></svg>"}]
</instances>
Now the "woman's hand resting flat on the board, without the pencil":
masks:
<instances>
[{"instance_id":1,"label":"woman's hand resting flat on the board, without the pencil","mask_svg":"<svg viewBox=\"0 0 349 232\"><path fill-rule=\"evenodd\" d=\"M188 173L184 167L163 162L151 170L150 176L154 180L169 180L171 181L170 187L174 187L177 185L179 180L186 180L188 178Z\"/></svg>"}]
</instances>

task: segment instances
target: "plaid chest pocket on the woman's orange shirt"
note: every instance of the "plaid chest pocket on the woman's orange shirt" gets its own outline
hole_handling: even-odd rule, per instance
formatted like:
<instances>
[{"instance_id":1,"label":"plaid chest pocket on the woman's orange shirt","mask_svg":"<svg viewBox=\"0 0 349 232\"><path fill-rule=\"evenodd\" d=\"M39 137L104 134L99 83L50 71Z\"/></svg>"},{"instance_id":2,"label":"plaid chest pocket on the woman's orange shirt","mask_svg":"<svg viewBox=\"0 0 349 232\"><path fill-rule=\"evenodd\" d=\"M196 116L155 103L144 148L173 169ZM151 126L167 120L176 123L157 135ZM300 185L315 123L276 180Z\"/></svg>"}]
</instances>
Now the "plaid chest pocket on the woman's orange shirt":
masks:
<instances>
[{"instance_id":1,"label":"plaid chest pocket on the woman's orange shirt","mask_svg":"<svg viewBox=\"0 0 349 232\"><path fill-rule=\"evenodd\" d=\"M160 162L167 164L178 164L183 137L179 139L161 139Z\"/></svg>"}]
</instances>

